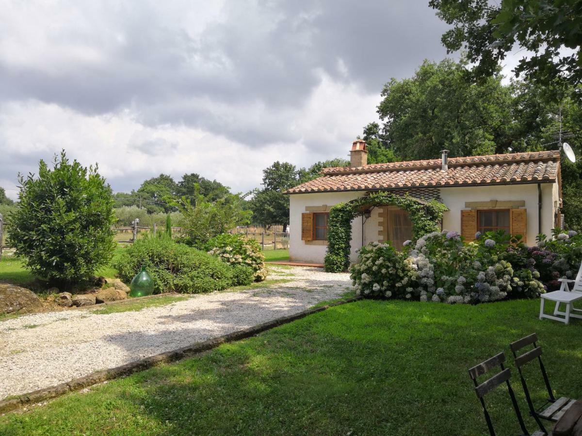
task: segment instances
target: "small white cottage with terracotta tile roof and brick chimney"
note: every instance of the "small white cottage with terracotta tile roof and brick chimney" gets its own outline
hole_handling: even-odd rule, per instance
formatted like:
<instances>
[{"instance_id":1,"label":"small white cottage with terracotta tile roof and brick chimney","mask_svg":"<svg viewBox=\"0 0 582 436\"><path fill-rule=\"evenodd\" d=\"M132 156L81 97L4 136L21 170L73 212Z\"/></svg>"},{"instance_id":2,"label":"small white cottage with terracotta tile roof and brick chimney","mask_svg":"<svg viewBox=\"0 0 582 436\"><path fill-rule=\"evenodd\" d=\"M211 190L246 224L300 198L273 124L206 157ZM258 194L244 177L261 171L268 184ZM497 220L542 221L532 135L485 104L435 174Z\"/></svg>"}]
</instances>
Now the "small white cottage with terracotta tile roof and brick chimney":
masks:
<instances>
[{"instance_id":1,"label":"small white cottage with terracotta tile roof and brick chimney","mask_svg":"<svg viewBox=\"0 0 582 436\"><path fill-rule=\"evenodd\" d=\"M506 230L534 244L538 233L559 226L562 190L558 151L448 158L367 165L368 151L354 141L350 166L325 168L321 177L286 191L290 195L290 259L322 263L327 251L329 210L371 192L436 199L448 207L441 228L466 241L477 231ZM412 237L405 210L375 205L352 221L350 259L372 241L402 248Z\"/></svg>"}]
</instances>

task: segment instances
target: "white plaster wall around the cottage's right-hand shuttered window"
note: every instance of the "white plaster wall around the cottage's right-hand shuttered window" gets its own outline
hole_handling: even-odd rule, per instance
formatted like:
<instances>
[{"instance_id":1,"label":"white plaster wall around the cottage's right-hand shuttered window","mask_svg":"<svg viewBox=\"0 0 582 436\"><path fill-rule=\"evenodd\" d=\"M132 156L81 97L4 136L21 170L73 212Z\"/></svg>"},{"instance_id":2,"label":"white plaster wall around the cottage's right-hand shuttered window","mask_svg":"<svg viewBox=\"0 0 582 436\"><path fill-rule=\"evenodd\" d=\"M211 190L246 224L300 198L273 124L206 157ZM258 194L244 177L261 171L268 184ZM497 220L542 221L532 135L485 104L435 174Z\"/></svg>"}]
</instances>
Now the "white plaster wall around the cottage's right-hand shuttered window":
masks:
<instances>
[{"instance_id":1,"label":"white plaster wall around the cottage's right-hand shuttered window","mask_svg":"<svg viewBox=\"0 0 582 436\"><path fill-rule=\"evenodd\" d=\"M542 183L542 233L551 234L553 201L558 195L558 184ZM538 185L467 186L441 188L443 203L450 209L443 216L443 229L461 231L461 212L466 201L525 201L527 209L527 244L535 244L538 234Z\"/></svg>"}]
</instances>

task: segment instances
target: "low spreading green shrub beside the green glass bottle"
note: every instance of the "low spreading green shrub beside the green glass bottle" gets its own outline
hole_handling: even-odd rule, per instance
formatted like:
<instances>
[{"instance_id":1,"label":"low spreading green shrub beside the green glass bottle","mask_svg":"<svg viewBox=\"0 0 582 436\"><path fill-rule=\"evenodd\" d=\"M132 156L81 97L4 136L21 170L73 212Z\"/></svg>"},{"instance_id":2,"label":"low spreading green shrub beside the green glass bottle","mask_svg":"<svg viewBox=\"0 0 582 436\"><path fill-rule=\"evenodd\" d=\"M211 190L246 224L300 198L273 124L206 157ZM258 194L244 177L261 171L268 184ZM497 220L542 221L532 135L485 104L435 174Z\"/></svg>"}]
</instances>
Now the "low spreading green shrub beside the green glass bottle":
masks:
<instances>
[{"instance_id":1,"label":"low spreading green shrub beside the green glass bottle","mask_svg":"<svg viewBox=\"0 0 582 436\"><path fill-rule=\"evenodd\" d=\"M238 284L241 275L234 277L233 269L214 256L167 237L137 240L116 256L113 266L126 283L145 266L154 280L155 294L220 291Z\"/></svg>"}]
</instances>

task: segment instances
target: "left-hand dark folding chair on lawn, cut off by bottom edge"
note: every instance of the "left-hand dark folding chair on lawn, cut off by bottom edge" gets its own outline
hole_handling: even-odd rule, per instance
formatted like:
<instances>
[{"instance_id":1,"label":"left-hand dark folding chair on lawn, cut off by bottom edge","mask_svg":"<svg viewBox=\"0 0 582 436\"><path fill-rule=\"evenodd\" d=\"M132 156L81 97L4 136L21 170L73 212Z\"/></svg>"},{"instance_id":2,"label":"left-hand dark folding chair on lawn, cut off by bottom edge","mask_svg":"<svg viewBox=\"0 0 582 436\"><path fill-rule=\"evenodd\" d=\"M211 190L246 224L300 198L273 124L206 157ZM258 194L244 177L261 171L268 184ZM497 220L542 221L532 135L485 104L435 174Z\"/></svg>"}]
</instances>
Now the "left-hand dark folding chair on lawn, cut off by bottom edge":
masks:
<instances>
[{"instance_id":1,"label":"left-hand dark folding chair on lawn, cut off by bottom edge","mask_svg":"<svg viewBox=\"0 0 582 436\"><path fill-rule=\"evenodd\" d=\"M498 387L499 385L503 384L504 382L507 384L509 396L511 397L511 402L513 403L513 409L515 410L515 414L517 416L517 421L519 421L519 426L521 428L522 436L529 436L530 433L527 431L526 424L523 422L523 417L521 416L521 412L519 410L519 405L517 405L517 401L515 398L515 394L513 393L513 389L511 384L509 383L509 379L511 378L511 372L509 369L503 367L503 362L505 362L505 353L499 353L496 356L493 356L491 359L485 360L485 362L478 364L477 366L472 367L469 370L469 376L473 380L475 384L475 393L477 394L477 398L481 402L481 406L483 408L483 413L485 414L485 421L487 422L487 428L489 428L489 433L491 436L495 436L495 430L493 428L493 424L491 423L491 417L489 416L489 412L487 412L487 406L485 405L485 400L483 397L488 392L491 392L493 389ZM483 374L488 373L492 369L499 367L501 371L495 376L489 378L489 380L484 381L483 383L479 384L477 378L482 376ZM542 436L545 433L541 431L536 431L533 436Z\"/></svg>"}]
</instances>

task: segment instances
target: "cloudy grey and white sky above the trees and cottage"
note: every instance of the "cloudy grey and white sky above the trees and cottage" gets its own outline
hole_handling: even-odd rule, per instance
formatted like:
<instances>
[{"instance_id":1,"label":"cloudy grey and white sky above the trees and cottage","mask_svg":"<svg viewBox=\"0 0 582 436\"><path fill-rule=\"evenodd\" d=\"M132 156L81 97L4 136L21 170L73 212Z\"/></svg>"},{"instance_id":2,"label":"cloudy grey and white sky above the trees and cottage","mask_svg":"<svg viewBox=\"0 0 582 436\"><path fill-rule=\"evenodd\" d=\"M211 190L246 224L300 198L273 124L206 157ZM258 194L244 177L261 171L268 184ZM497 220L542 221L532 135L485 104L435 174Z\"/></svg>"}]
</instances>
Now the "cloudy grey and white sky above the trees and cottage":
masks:
<instances>
[{"instance_id":1,"label":"cloudy grey and white sky above the trees and cottage","mask_svg":"<svg viewBox=\"0 0 582 436\"><path fill-rule=\"evenodd\" d=\"M62 148L114 191L346 157L382 85L446 56L427 4L0 0L0 186Z\"/></svg>"}]
</instances>

